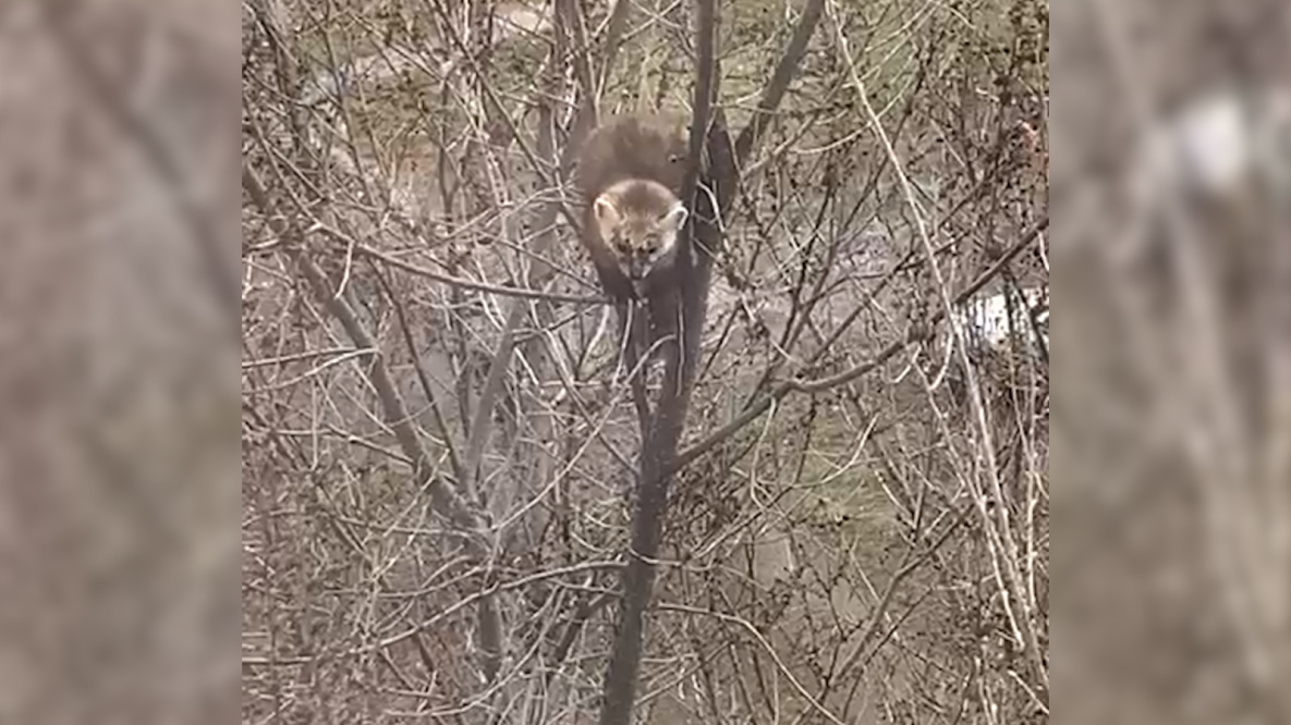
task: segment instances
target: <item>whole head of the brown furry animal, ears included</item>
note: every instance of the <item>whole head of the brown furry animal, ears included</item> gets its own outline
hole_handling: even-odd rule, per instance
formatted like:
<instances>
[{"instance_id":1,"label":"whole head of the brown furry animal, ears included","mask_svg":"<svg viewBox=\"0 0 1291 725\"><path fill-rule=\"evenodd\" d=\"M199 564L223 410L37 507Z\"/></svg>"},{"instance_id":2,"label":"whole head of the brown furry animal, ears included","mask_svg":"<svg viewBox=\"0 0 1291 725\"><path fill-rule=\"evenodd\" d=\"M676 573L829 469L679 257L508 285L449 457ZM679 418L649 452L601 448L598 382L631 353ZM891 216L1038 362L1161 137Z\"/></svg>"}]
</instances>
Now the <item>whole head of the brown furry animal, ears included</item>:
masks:
<instances>
[{"instance_id":1,"label":"whole head of the brown furry animal, ears included","mask_svg":"<svg viewBox=\"0 0 1291 725\"><path fill-rule=\"evenodd\" d=\"M630 181L596 197L600 239L618 257L627 279L639 281L667 262L676 249L676 235L686 223L686 206L661 184Z\"/></svg>"}]
</instances>

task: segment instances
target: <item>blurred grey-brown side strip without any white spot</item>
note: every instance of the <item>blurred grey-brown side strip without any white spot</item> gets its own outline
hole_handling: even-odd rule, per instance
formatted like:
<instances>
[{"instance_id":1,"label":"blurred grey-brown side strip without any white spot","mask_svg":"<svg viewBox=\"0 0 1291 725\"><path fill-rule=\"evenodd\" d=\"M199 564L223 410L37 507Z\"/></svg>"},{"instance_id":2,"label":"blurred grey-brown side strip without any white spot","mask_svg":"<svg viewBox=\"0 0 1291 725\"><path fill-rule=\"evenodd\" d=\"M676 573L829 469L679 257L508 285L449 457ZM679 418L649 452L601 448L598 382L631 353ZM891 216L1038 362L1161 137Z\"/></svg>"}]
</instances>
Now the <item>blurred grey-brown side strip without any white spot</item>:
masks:
<instances>
[{"instance_id":1,"label":"blurred grey-brown side strip without any white spot","mask_svg":"<svg viewBox=\"0 0 1291 725\"><path fill-rule=\"evenodd\" d=\"M232 8L4 3L0 59L0 721L230 721Z\"/></svg>"}]
</instances>

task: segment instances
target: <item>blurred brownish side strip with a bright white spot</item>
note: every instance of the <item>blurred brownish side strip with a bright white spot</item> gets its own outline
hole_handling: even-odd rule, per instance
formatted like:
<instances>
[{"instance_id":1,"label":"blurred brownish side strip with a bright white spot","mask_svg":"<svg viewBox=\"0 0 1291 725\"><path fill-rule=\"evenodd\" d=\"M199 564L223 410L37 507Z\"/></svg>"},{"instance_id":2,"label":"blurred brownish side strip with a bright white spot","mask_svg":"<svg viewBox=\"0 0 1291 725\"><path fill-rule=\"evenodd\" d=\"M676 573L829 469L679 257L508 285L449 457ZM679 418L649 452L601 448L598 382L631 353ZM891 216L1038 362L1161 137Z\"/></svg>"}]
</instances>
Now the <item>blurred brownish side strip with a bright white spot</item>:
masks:
<instances>
[{"instance_id":1,"label":"blurred brownish side strip with a bright white spot","mask_svg":"<svg viewBox=\"0 0 1291 725\"><path fill-rule=\"evenodd\" d=\"M1088 721L1285 722L1288 5L1059 13L1055 688Z\"/></svg>"}]
</instances>

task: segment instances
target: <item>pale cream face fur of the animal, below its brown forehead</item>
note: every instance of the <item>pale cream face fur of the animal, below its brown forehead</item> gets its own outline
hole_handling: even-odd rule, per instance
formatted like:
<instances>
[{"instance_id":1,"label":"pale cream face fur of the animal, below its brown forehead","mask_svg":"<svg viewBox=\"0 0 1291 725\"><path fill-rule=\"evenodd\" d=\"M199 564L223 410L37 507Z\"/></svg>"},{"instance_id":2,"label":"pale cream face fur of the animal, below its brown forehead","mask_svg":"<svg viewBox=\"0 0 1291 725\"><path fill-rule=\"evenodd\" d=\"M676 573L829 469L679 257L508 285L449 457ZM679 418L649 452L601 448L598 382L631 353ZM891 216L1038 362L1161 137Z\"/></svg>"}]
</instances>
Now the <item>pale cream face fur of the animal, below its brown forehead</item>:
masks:
<instances>
[{"instance_id":1,"label":"pale cream face fur of the animal, below its brown forehead","mask_svg":"<svg viewBox=\"0 0 1291 725\"><path fill-rule=\"evenodd\" d=\"M612 194L596 197L600 239L618 257L630 280L642 280L676 248L676 233L686 223L686 206L675 199L661 209L624 208Z\"/></svg>"}]
</instances>

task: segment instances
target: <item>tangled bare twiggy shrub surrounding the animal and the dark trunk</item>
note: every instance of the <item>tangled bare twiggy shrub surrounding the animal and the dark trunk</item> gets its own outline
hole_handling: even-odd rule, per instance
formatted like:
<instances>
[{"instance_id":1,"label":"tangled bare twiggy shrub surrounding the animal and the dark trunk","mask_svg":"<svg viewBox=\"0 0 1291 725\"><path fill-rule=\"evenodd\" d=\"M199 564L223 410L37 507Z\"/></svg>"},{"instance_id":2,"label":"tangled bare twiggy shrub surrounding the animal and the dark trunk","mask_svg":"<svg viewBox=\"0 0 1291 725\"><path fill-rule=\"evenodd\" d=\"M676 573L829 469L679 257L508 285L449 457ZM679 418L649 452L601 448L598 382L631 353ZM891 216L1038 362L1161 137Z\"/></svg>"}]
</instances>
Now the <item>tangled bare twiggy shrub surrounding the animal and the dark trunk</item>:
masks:
<instances>
[{"instance_id":1,"label":"tangled bare twiggy shrub surrounding the animal and the dark trunk","mask_svg":"<svg viewBox=\"0 0 1291 725\"><path fill-rule=\"evenodd\" d=\"M951 313L1048 284L1047 5L798 5L719 8L656 463L565 182L692 6L244 5L244 720L591 721L649 466L646 721L1047 719L1047 353Z\"/></svg>"}]
</instances>

